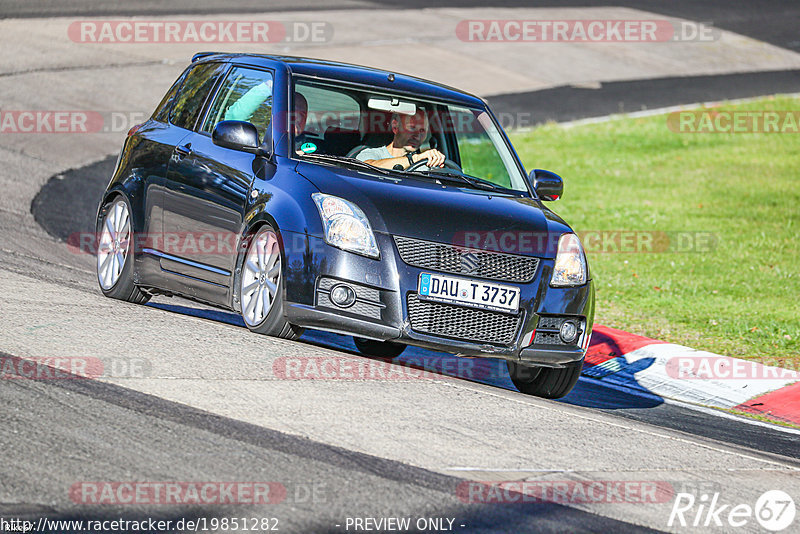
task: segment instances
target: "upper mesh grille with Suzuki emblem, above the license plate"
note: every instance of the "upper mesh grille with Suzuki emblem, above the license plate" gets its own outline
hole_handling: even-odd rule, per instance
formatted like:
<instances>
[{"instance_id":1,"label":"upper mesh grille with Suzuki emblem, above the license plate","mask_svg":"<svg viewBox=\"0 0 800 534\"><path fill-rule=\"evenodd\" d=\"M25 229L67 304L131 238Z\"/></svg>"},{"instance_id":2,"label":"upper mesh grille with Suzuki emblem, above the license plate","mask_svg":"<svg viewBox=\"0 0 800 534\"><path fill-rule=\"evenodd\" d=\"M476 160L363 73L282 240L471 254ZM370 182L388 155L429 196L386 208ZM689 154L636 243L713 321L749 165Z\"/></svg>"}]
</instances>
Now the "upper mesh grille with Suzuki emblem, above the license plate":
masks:
<instances>
[{"instance_id":1,"label":"upper mesh grille with Suzuki emblem, above the license plate","mask_svg":"<svg viewBox=\"0 0 800 534\"><path fill-rule=\"evenodd\" d=\"M538 258L469 249L446 243L394 236L400 258L413 267L445 273L527 283L536 275Z\"/></svg>"}]
</instances>

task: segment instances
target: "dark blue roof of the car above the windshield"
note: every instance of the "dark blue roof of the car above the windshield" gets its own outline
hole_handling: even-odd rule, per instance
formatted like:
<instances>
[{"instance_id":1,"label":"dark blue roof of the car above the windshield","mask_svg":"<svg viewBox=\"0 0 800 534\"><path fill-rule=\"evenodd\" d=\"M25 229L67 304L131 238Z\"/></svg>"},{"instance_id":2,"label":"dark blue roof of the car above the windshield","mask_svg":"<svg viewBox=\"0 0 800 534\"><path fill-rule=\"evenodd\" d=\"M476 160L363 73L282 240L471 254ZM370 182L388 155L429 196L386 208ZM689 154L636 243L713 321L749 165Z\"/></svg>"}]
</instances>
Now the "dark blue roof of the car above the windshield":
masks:
<instances>
[{"instance_id":1,"label":"dark blue roof of the car above the windshield","mask_svg":"<svg viewBox=\"0 0 800 534\"><path fill-rule=\"evenodd\" d=\"M216 52L201 52L195 54L192 62L196 61L236 61L237 63L274 67L280 63L288 69L290 74L298 74L315 78L343 80L360 85L368 85L394 92L407 93L415 96L427 96L439 100L446 100L464 106L486 106L486 101L480 97L461 91L444 84L424 80L415 76L401 74L391 70L376 69L297 56L282 56L269 54L225 54ZM393 81L390 78L393 76Z\"/></svg>"}]
</instances>

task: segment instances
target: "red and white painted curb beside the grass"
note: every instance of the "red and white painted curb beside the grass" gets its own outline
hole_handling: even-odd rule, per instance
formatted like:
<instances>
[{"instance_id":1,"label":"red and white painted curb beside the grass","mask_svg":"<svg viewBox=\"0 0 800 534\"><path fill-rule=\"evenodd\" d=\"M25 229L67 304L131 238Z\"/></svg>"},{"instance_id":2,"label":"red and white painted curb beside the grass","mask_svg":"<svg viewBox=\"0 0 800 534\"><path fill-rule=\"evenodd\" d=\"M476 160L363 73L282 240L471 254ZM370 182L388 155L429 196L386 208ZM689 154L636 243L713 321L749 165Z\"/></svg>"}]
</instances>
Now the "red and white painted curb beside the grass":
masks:
<instances>
[{"instance_id":1,"label":"red and white painted curb beside the grass","mask_svg":"<svg viewBox=\"0 0 800 534\"><path fill-rule=\"evenodd\" d=\"M800 373L594 325L583 375L678 401L800 424Z\"/></svg>"}]
</instances>

